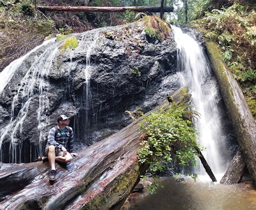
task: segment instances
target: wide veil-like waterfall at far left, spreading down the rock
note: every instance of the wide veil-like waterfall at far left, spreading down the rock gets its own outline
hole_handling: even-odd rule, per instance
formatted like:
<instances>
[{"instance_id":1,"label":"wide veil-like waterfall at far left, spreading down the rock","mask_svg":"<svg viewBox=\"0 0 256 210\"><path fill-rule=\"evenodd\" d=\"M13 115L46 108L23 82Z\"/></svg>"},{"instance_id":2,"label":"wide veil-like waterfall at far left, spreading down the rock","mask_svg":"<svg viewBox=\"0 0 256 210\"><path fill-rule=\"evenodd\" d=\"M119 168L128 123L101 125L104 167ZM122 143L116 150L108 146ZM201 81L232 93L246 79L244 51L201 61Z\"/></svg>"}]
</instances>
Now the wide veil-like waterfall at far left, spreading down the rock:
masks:
<instances>
[{"instance_id":1,"label":"wide veil-like waterfall at far left, spreading down the rock","mask_svg":"<svg viewBox=\"0 0 256 210\"><path fill-rule=\"evenodd\" d=\"M49 45L49 43L54 42L55 39L44 41L42 45L31 50L25 56L20 57L13 61L9 66L6 66L0 73L1 87L0 94L2 93L4 87L10 82L15 72L20 68L23 61L25 61L33 52ZM2 144L5 139L10 139L9 146L9 162L20 163L21 162L21 149L22 143L20 143L19 135L22 133L22 126L25 122L26 117L29 114L29 107L31 106L31 101L35 95L35 89L38 89L38 110L37 110L37 127L39 135L39 146L36 148L35 153L42 155L42 142L44 142L44 134L42 133L45 124L47 124L47 109L49 109L49 98L47 95L47 82L44 78L47 78L49 70L52 65L52 59L56 56L60 43L57 45L51 45L49 50L43 50L40 56L33 56L33 60L26 70L24 77L18 85L17 93L13 96L12 100L12 110L10 122L0 130L0 160L3 161L3 151ZM44 68L42 68L44 66ZM8 76L7 76L8 75ZM19 111L15 110L15 106L19 100L22 100L21 107ZM31 151L30 151L31 152ZM31 154L30 154L31 156Z\"/></svg>"}]
</instances>

